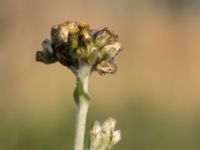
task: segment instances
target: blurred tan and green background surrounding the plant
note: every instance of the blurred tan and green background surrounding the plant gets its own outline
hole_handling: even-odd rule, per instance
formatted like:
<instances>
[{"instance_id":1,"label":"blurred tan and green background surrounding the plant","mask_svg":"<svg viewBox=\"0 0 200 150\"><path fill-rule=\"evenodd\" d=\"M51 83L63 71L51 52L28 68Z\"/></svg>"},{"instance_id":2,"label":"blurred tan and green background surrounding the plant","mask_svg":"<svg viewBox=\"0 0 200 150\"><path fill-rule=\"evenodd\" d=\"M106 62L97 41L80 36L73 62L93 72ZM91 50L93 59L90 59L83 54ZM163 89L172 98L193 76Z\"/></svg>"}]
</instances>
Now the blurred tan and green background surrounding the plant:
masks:
<instances>
[{"instance_id":1,"label":"blurred tan and green background surrounding the plant","mask_svg":"<svg viewBox=\"0 0 200 150\"><path fill-rule=\"evenodd\" d=\"M0 0L0 150L72 150L74 76L35 61L66 20L109 27L124 48L115 75L92 74L87 130L112 116L115 150L200 149L199 0Z\"/></svg>"}]
</instances>

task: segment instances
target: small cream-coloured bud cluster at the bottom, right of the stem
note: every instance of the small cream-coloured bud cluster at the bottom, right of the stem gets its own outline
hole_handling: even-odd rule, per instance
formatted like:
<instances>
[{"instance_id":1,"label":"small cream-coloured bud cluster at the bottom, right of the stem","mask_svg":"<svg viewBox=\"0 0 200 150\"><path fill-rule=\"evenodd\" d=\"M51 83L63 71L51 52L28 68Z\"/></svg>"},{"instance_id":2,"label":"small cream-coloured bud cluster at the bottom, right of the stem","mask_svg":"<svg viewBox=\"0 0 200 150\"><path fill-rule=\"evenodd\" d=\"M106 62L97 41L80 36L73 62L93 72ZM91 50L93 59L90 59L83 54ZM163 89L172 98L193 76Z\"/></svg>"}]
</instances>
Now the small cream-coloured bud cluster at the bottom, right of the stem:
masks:
<instances>
[{"instance_id":1,"label":"small cream-coloured bud cluster at the bottom, right of the stem","mask_svg":"<svg viewBox=\"0 0 200 150\"><path fill-rule=\"evenodd\" d=\"M90 150L109 150L121 140L121 131L115 130L116 120L108 118L102 125L96 121L90 130Z\"/></svg>"}]
</instances>

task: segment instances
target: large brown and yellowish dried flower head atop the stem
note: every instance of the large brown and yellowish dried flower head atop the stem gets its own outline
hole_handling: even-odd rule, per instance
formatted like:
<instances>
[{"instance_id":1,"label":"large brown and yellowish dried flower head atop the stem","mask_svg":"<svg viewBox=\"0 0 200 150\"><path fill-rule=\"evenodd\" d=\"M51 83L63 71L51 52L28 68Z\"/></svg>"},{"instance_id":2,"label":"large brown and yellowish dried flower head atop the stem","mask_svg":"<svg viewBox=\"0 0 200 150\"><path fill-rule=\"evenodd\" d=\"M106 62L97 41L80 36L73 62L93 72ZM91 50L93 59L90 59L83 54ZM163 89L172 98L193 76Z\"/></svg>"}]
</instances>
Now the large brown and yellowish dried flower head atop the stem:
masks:
<instances>
[{"instance_id":1,"label":"large brown and yellowish dried flower head atop the stem","mask_svg":"<svg viewBox=\"0 0 200 150\"><path fill-rule=\"evenodd\" d=\"M118 36L107 28L92 30L85 22L67 21L51 29L51 40L45 39L36 60L45 64L60 62L78 72L83 64L99 74L115 73L114 57L122 49Z\"/></svg>"}]
</instances>

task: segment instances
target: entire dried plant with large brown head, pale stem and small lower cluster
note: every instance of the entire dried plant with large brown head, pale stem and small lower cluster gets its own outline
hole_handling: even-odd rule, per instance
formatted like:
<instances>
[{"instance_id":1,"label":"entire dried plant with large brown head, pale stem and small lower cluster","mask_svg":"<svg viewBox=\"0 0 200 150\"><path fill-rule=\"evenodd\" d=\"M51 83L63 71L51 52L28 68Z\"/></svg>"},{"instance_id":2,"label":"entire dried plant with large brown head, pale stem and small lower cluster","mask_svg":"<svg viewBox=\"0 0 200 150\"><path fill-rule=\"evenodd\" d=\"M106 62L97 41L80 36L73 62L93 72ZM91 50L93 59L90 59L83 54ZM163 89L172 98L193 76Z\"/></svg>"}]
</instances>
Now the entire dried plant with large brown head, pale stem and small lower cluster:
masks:
<instances>
[{"instance_id":1,"label":"entire dried plant with large brown head, pale stem and small lower cluster","mask_svg":"<svg viewBox=\"0 0 200 150\"><path fill-rule=\"evenodd\" d=\"M122 50L118 36L108 28L92 30L85 22L67 21L51 29L51 40L45 39L43 50L36 53L36 60L45 64L60 62L76 77L74 99L78 107L74 150L83 150L87 111L91 101L88 94L89 77L93 71L100 75L117 70L115 56ZM115 131L116 121L95 122L90 131L89 150L109 150L121 139Z\"/></svg>"}]
</instances>

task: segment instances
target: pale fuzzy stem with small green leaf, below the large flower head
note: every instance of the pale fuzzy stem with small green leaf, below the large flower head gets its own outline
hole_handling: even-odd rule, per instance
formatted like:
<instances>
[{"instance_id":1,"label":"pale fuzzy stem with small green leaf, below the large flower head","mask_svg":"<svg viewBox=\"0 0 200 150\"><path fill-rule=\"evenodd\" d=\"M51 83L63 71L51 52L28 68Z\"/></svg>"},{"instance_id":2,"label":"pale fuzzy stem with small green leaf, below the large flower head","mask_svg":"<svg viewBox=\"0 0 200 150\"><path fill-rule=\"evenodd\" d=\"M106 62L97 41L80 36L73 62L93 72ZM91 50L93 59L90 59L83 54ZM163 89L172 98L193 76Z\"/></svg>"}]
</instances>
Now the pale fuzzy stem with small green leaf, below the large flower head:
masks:
<instances>
[{"instance_id":1,"label":"pale fuzzy stem with small green leaf, below the large flower head","mask_svg":"<svg viewBox=\"0 0 200 150\"><path fill-rule=\"evenodd\" d=\"M74 150L83 150L84 147L86 118L90 103L90 97L88 95L88 81L90 72L91 66L83 65L80 67L76 75L77 86L74 91L74 99L77 104L77 115Z\"/></svg>"}]
</instances>

